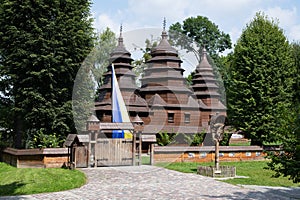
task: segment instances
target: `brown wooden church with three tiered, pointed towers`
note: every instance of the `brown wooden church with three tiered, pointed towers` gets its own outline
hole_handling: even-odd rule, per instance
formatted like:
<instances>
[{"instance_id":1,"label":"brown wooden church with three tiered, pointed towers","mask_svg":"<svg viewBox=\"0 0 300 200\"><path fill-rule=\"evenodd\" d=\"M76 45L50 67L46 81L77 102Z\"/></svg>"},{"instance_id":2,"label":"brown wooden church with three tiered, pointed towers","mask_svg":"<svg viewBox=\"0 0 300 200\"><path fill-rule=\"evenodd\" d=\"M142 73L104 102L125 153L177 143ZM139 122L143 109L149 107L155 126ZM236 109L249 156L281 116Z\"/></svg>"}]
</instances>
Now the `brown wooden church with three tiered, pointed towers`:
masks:
<instances>
[{"instance_id":1,"label":"brown wooden church with three tiered, pointed towers","mask_svg":"<svg viewBox=\"0 0 300 200\"><path fill-rule=\"evenodd\" d=\"M112 64L130 120L138 115L144 121L143 135L159 132L195 134L208 130L210 116L226 115L205 49L201 62L195 66L192 86L188 86L183 77L182 60L169 44L165 27L160 43L151 50L141 87L135 84L132 61L121 32L95 103L100 122L112 122Z\"/></svg>"}]
</instances>

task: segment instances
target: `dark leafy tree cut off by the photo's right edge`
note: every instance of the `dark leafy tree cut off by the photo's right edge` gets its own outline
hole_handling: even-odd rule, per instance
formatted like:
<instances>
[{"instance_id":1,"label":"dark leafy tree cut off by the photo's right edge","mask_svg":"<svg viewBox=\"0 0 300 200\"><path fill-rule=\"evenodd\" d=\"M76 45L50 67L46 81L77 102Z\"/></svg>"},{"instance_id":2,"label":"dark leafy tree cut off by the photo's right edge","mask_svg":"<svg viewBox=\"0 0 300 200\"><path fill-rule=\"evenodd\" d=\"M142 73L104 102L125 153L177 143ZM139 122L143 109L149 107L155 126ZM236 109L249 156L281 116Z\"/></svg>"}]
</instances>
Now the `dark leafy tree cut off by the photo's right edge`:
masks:
<instances>
[{"instance_id":1,"label":"dark leafy tree cut off by the photo's right edge","mask_svg":"<svg viewBox=\"0 0 300 200\"><path fill-rule=\"evenodd\" d=\"M300 44L293 43L292 55L297 67L295 81L295 96L291 109L286 109L281 116L281 135L282 153L269 153L271 162L268 164L270 169L276 172L275 176L289 176L293 182L300 182Z\"/></svg>"}]
</instances>

